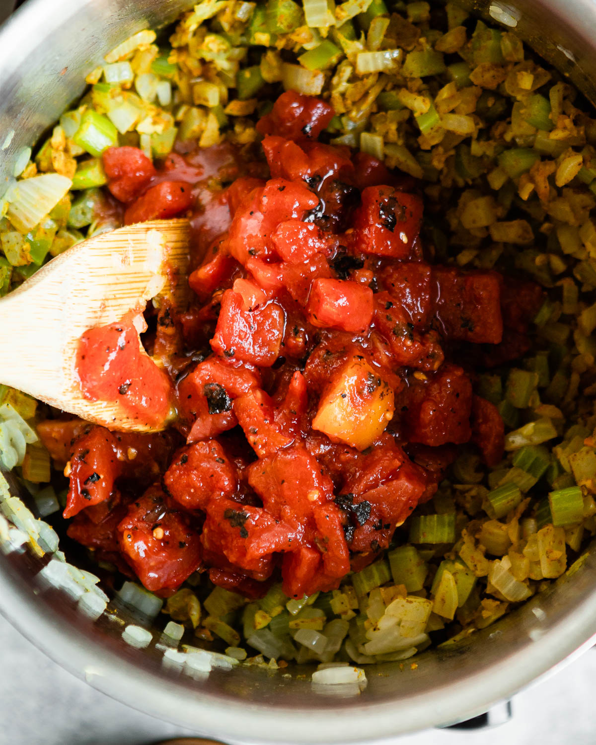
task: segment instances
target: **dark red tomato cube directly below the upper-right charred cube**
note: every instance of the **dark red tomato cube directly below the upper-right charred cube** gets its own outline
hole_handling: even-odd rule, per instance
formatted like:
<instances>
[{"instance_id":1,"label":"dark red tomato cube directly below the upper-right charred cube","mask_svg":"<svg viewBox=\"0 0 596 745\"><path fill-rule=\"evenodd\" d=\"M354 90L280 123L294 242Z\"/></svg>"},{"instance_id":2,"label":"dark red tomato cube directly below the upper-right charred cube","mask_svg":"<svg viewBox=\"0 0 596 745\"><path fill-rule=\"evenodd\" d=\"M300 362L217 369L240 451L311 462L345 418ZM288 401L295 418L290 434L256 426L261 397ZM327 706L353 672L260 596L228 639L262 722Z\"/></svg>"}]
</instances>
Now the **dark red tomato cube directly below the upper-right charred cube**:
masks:
<instances>
[{"instance_id":1,"label":"dark red tomato cube directly below the upper-right charred cube","mask_svg":"<svg viewBox=\"0 0 596 745\"><path fill-rule=\"evenodd\" d=\"M381 272L390 299L408 314L414 326L426 326L434 311L432 269L425 261L400 261Z\"/></svg>"}]
</instances>

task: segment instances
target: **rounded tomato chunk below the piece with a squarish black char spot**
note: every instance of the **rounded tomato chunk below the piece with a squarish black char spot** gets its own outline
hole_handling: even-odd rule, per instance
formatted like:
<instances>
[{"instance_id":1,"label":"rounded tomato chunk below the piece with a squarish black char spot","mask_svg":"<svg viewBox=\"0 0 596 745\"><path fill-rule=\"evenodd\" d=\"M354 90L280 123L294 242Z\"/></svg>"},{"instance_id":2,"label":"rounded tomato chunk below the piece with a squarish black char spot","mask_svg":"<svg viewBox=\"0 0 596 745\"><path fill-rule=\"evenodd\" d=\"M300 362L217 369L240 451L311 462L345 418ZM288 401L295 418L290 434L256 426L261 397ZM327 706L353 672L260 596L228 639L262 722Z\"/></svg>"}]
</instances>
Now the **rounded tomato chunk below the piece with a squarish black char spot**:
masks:
<instances>
[{"instance_id":1,"label":"rounded tomato chunk below the piece with a squarish black char spot","mask_svg":"<svg viewBox=\"0 0 596 745\"><path fill-rule=\"evenodd\" d=\"M217 440L182 448L163 480L168 493L187 510L205 510L213 498L236 489L235 468Z\"/></svg>"}]
</instances>

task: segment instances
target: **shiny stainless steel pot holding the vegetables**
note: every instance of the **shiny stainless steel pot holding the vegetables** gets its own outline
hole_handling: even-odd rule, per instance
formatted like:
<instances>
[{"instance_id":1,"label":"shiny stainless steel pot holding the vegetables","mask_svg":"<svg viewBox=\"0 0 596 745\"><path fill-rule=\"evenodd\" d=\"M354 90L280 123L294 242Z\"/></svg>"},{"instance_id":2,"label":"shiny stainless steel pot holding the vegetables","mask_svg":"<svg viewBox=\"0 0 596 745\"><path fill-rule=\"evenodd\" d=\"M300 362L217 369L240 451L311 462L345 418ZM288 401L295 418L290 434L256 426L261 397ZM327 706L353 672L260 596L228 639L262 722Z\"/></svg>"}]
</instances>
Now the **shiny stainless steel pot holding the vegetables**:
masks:
<instances>
[{"instance_id":1,"label":"shiny stainless steel pot holding the vegetables","mask_svg":"<svg viewBox=\"0 0 596 745\"><path fill-rule=\"evenodd\" d=\"M509 25L595 100L595 0L478 0L478 13ZM16 153L35 142L83 91L102 56L148 26L171 22L188 0L29 0L0 31L0 191ZM1 330L0 330L1 333ZM13 489L16 489L13 486ZM314 691L258 668L213 671L208 679L165 668L162 654L136 650L104 614L91 621L73 600L44 585L47 557L0 555L0 610L34 644L95 688L156 717L228 741L381 741L444 726L493 703L592 644L596 635L596 552L530 600L451 650L400 665L367 668L358 697Z\"/></svg>"}]
</instances>

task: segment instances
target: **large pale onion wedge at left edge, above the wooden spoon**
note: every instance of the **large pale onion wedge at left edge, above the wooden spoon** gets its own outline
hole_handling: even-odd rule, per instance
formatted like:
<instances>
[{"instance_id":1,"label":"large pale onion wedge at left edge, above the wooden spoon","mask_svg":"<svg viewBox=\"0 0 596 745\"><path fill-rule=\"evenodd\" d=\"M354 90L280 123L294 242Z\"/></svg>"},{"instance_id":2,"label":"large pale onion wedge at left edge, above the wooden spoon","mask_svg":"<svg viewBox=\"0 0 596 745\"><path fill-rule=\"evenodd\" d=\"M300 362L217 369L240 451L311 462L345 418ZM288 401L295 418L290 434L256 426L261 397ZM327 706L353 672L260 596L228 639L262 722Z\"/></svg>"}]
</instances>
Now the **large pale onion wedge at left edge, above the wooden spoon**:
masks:
<instances>
[{"instance_id":1,"label":"large pale onion wedge at left edge, above the wooden spoon","mask_svg":"<svg viewBox=\"0 0 596 745\"><path fill-rule=\"evenodd\" d=\"M8 201L7 215L19 232L34 228L69 191L72 181L60 174L42 174L16 183Z\"/></svg>"}]
</instances>

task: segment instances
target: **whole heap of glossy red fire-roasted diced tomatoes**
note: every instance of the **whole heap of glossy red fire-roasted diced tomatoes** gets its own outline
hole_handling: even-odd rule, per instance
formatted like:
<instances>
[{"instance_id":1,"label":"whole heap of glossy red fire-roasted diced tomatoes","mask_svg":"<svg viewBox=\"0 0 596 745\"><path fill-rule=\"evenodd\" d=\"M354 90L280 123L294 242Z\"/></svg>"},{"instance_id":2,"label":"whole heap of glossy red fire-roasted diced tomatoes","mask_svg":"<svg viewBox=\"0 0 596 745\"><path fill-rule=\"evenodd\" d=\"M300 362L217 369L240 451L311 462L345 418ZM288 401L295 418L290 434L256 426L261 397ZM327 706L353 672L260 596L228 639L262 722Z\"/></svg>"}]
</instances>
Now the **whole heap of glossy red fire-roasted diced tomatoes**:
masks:
<instances>
[{"instance_id":1,"label":"whole heap of glossy red fire-roasted diced tomatoes","mask_svg":"<svg viewBox=\"0 0 596 745\"><path fill-rule=\"evenodd\" d=\"M77 370L89 398L173 424L38 431L69 473L69 536L164 597L196 571L250 599L279 581L297 598L337 589L434 495L456 446L503 457L503 420L466 370L530 346L542 290L431 264L418 183L317 142L333 115L288 91L256 124L259 155L104 153L125 223L190 219L192 297L147 314L148 354L124 320L90 329Z\"/></svg>"}]
</instances>

